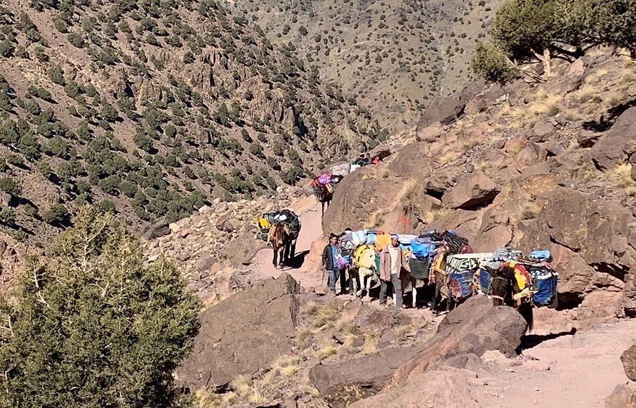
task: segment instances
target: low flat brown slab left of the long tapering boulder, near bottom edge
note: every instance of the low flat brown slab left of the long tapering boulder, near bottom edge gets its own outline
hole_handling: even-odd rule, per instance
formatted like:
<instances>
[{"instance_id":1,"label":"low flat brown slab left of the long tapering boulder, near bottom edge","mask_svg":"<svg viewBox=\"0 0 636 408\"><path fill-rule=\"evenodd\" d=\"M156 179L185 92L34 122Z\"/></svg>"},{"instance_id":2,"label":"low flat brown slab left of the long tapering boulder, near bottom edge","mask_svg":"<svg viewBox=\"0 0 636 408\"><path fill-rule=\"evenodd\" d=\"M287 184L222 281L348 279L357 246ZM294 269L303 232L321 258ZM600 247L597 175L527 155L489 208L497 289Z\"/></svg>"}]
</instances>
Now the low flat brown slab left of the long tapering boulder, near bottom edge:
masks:
<instances>
[{"instance_id":1,"label":"low flat brown slab left of the long tapering boulder, near bottom edge","mask_svg":"<svg viewBox=\"0 0 636 408\"><path fill-rule=\"evenodd\" d=\"M369 394L376 394L387 383L397 367L421 351L421 347L385 349L377 354L352 358L330 365L316 365L309 379L320 395L336 405L348 406ZM364 390L359 395L352 389Z\"/></svg>"}]
</instances>

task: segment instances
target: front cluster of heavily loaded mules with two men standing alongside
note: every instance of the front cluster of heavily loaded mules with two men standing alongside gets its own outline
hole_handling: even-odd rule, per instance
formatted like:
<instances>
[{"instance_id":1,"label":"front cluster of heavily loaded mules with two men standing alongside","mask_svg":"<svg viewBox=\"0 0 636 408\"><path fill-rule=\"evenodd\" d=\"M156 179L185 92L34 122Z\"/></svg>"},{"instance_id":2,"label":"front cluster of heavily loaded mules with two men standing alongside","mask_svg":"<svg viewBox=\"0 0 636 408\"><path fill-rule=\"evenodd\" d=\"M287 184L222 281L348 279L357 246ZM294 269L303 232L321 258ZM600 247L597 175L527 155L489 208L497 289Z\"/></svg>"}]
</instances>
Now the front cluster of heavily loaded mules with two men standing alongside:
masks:
<instances>
[{"instance_id":1,"label":"front cluster of heavily loaded mules with two men standing alongside","mask_svg":"<svg viewBox=\"0 0 636 408\"><path fill-rule=\"evenodd\" d=\"M550 267L550 259L545 249L524 256L506 245L494 252L475 253L468 239L455 230L412 235L347 228L331 234L322 252L328 289L334 295L338 281L339 294L360 297L364 292L370 296L370 290L379 285L380 304L386 304L390 289L395 307L404 307L404 292L410 293L417 307L419 293L424 296L420 300L438 313L442 305L448 312L466 298L484 294L493 303L528 312L528 321L529 309L555 303L558 274ZM371 282L375 282L373 288Z\"/></svg>"}]
</instances>

